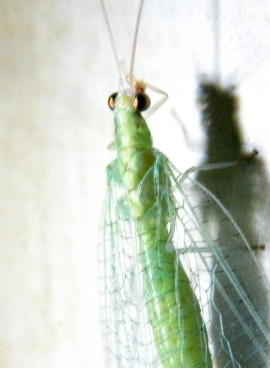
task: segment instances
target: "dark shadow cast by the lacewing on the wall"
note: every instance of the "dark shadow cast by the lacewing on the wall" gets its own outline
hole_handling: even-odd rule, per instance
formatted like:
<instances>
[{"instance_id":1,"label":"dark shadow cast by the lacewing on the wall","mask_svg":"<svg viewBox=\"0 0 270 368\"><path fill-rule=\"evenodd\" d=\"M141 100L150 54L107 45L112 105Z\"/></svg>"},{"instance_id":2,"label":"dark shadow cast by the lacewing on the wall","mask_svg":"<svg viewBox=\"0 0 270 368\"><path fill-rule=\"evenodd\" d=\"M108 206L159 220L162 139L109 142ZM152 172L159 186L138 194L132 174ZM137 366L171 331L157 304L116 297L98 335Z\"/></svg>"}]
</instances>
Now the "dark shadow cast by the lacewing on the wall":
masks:
<instances>
[{"instance_id":1,"label":"dark shadow cast by the lacewing on the wall","mask_svg":"<svg viewBox=\"0 0 270 368\"><path fill-rule=\"evenodd\" d=\"M216 162L237 161L236 165L216 170L198 171L196 180L210 190L218 200L229 210L235 219L244 236L248 240L253 253L257 258L263 256L263 245L258 244L258 221L257 209L262 204L268 203L269 199L264 198L270 192L270 185L267 181L264 162L260 155L253 157L243 150L243 138L239 127L238 118L238 98L235 94L235 87L224 88L220 84L203 80L199 84L198 101L202 104L201 122L206 134L206 153L202 165ZM266 193L266 194L264 194ZM266 205L265 205L266 206ZM237 234L235 239L226 237L228 226L224 226L224 218L213 208L206 207L202 211L203 220L207 223L213 217L216 226L216 241L225 258L234 270L240 285L246 295L251 300L254 309L261 317L263 324L269 330L269 287L265 280L260 278L257 263L254 263L252 255L243 245L239 246ZM225 239L225 240L224 240ZM238 253L234 259L233 255ZM239 257L239 254L241 256ZM242 264L238 264L241 260ZM263 346L266 354L269 355L269 345L265 337L260 335L256 329L257 322L250 318L248 311L243 306L243 301L239 298L235 289L228 285L228 279L224 276L218 265L215 269L215 277L230 296L233 305L243 316L245 325L257 337ZM228 305L216 290L212 296L212 339L215 351L222 350L220 333L225 334L233 349L233 355L240 362L241 367L266 367L265 360L258 351L252 351L251 339L244 331L243 325L239 323L237 317L228 310ZM218 310L218 313L216 312ZM220 324L222 316L222 325ZM216 353L216 367L225 367L226 357ZM226 367L228 367L226 365ZM229 366L235 367L235 366ZM237 365L238 367L238 365Z\"/></svg>"}]
</instances>

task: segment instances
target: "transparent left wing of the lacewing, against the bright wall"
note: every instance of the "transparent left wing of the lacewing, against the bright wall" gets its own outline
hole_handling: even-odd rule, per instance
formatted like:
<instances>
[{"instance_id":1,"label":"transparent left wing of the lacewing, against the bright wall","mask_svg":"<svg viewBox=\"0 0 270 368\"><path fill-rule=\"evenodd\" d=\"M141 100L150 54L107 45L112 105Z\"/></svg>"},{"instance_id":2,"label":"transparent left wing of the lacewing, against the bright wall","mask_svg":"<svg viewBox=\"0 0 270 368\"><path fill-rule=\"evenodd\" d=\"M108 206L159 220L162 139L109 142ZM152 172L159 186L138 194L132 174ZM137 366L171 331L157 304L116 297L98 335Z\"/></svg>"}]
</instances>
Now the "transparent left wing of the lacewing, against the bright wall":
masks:
<instances>
[{"instance_id":1,"label":"transparent left wing of the lacewing, against the bright wall","mask_svg":"<svg viewBox=\"0 0 270 368\"><path fill-rule=\"evenodd\" d=\"M106 367L161 367L147 322L138 244L127 193L108 173L100 246Z\"/></svg>"}]
</instances>

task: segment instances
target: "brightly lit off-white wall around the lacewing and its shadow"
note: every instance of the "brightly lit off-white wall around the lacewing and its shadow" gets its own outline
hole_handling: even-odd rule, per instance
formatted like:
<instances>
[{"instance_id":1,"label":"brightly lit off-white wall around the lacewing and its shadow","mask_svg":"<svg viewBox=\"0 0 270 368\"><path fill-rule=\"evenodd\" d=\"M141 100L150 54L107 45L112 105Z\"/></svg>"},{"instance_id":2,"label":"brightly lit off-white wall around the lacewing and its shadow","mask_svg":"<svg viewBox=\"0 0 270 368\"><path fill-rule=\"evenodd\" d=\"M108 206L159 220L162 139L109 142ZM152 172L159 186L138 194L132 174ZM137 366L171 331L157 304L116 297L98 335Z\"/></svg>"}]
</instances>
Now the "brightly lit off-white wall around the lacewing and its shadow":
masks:
<instances>
[{"instance_id":1,"label":"brightly lit off-white wall around the lacewing and its shadow","mask_svg":"<svg viewBox=\"0 0 270 368\"><path fill-rule=\"evenodd\" d=\"M137 1L107 3L128 70ZM203 74L238 85L244 143L270 160L269 33L269 1L146 0L135 76L170 96L149 122L179 170L201 158ZM101 366L98 228L118 77L99 1L1 0L0 58L0 367Z\"/></svg>"}]
</instances>

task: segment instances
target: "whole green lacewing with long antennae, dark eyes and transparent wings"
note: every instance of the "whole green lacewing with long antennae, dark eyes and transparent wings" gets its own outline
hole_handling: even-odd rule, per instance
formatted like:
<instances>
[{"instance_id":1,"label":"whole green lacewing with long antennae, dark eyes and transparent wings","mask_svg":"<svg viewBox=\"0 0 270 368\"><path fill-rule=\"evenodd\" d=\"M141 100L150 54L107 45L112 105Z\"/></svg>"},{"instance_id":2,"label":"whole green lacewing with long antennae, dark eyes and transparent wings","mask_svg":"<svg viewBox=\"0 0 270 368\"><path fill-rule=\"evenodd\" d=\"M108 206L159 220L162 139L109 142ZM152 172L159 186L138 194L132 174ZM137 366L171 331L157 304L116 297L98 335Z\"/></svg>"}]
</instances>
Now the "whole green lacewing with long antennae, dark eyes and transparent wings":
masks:
<instances>
[{"instance_id":1,"label":"whole green lacewing with long antennae, dark eyes and transparent wings","mask_svg":"<svg viewBox=\"0 0 270 368\"><path fill-rule=\"evenodd\" d=\"M107 367L269 367L269 286L253 250L216 196L153 147L142 116L149 85L134 78L133 65L143 3L124 79L101 0L120 79L108 101L117 154L107 168L100 260ZM250 268L254 287L264 284L260 310L239 281L252 277Z\"/></svg>"}]
</instances>

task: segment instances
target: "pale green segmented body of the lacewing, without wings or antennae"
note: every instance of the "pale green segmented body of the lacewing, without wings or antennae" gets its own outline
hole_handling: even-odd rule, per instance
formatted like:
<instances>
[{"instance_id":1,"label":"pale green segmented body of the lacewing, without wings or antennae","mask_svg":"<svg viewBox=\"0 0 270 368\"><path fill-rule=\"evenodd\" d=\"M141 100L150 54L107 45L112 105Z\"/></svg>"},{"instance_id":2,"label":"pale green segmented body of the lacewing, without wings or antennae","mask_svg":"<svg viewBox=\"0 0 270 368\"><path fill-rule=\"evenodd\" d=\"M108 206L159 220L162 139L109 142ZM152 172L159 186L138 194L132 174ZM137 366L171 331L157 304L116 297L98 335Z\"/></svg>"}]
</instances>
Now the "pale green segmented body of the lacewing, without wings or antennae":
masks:
<instances>
[{"instance_id":1,"label":"pale green segmented body of the lacewing, without wings or antennae","mask_svg":"<svg viewBox=\"0 0 270 368\"><path fill-rule=\"evenodd\" d=\"M163 156L132 97L117 98L115 139L117 170L134 212L143 274L144 302L163 368L211 368L212 359L200 307L171 245L175 214ZM172 212L172 213L171 213Z\"/></svg>"}]
</instances>

